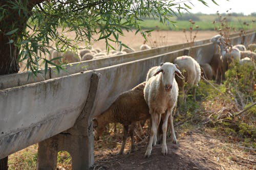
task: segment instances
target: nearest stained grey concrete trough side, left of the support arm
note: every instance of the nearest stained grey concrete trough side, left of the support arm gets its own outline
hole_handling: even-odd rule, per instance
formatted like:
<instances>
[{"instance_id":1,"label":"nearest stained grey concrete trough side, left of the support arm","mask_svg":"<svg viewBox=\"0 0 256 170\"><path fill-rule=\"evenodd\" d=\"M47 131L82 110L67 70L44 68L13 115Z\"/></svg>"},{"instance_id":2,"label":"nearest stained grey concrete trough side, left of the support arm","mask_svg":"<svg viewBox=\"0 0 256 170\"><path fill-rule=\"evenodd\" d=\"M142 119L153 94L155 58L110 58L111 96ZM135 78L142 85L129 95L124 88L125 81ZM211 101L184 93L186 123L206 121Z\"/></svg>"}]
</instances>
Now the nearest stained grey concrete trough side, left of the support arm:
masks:
<instances>
[{"instance_id":1,"label":"nearest stained grey concrete trough side, left of the support arm","mask_svg":"<svg viewBox=\"0 0 256 170\"><path fill-rule=\"evenodd\" d=\"M0 159L74 126L93 71L0 90Z\"/></svg>"}]
</instances>

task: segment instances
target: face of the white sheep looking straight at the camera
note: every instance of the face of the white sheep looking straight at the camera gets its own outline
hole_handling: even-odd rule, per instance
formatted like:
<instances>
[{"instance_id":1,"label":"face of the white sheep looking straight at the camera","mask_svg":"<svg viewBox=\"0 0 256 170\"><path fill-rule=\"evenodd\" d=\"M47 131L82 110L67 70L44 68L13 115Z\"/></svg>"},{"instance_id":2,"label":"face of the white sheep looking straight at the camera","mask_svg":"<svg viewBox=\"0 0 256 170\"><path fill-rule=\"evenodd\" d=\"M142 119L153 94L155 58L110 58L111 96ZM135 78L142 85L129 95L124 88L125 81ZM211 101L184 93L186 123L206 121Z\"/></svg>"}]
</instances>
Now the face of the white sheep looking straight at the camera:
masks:
<instances>
[{"instance_id":1,"label":"face of the white sheep looking straight at the camera","mask_svg":"<svg viewBox=\"0 0 256 170\"><path fill-rule=\"evenodd\" d=\"M162 74L162 83L165 91L172 90L175 74L181 79L184 79L184 77L181 74L181 71L178 69L177 64L173 64L169 62L161 63L161 66L157 69L154 76L156 76L160 72Z\"/></svg>"}]
</instances>

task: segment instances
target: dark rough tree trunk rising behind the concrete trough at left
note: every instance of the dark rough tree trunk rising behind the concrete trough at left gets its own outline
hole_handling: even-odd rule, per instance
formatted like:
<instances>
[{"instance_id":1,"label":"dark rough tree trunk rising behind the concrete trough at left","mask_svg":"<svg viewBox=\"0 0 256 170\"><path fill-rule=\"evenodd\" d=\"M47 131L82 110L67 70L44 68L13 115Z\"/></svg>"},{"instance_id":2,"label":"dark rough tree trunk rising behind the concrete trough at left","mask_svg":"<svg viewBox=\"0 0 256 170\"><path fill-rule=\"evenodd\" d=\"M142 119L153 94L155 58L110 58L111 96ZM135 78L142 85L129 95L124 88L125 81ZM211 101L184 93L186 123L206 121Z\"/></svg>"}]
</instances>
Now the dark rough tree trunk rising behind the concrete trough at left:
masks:
<instances>
[{"instance_id":1,"label":"dark rough tree trunk rising behind the concrete trough at left","mask_svg":"<svg viewBox=\"0 0 256 170\"><path fill-rule=\"evenodd\" d=\"M36 4L44 1L45 0L30 0L27 4L28 11L31 11ZM8 1L1 1L0 7L3 5L10 4ZM19 15L19 12L15 9L6 9L8 10L8 14L5 15L0 25L0 75L18 72L19 66L17 59L19 55L19 49L14 44L16 44L18 39L22 38L22 33L26 29L26 23L29 19L29 15L24 15L22 12ZM18 28L16 36L6 35L6 33L16 28ZM11 39L14 42L8 43Z\"/></svg>"}]
</instances>

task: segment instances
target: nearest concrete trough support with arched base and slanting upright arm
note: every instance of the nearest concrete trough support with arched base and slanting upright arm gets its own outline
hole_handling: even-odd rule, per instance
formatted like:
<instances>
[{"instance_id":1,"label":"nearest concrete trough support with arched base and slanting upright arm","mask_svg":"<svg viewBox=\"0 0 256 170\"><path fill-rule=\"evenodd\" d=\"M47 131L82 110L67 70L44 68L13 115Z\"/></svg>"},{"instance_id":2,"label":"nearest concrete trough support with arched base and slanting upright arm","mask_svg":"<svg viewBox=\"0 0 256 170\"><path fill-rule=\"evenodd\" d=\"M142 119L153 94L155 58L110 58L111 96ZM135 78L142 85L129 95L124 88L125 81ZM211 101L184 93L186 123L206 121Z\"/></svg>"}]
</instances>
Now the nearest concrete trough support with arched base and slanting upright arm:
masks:
<instances>
[{"instance_id":1,"label":"nearest concrete trough support with arched base and slanting upright arm","mask_svg":"<svg viewBox=\"0 0 256 170\"><path fill-rule=\"evenodd\" d=\"M100 75L93 74L88 98L75 125L49 139L38 143L37 169L55 169L59 151L67 151L72 157L72 169L89 169L94 163L94 136L92 108Z\"/></svg>"}]
</instances>

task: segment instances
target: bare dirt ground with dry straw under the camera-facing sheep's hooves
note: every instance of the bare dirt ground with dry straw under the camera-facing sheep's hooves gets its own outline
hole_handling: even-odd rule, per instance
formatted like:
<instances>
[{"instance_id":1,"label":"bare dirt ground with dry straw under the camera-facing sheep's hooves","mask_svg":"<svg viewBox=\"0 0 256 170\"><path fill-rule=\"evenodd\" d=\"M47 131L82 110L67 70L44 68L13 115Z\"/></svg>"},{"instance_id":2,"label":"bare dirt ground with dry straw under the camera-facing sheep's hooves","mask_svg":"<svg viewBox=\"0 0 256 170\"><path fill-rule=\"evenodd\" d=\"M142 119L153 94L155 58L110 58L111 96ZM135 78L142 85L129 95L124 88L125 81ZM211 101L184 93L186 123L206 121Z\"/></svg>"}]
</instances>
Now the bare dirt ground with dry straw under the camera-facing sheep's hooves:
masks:
<instances>
[{"instance_id":1,"label":"bare dirt ground with dry straw under the camera-facing sheep's hooves","mask_svg":"<svg viewBox=\"0 0 256 170\"><path fill-rule=\"evenodd\" d=\"M126 144L128 148L129 144ZM232 144L202 131L189 131L178 137L178 144L167 140L168 155L161 144L153 147L150 158L144 158L146 141L137 151L116 155L117 150L96 155L92 169L255 169L255 153L244 152ZM111 150L111 149L110 149Z\"/></svg>"}]
</instances>

